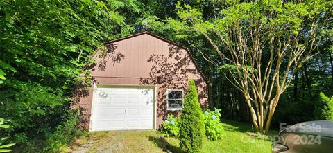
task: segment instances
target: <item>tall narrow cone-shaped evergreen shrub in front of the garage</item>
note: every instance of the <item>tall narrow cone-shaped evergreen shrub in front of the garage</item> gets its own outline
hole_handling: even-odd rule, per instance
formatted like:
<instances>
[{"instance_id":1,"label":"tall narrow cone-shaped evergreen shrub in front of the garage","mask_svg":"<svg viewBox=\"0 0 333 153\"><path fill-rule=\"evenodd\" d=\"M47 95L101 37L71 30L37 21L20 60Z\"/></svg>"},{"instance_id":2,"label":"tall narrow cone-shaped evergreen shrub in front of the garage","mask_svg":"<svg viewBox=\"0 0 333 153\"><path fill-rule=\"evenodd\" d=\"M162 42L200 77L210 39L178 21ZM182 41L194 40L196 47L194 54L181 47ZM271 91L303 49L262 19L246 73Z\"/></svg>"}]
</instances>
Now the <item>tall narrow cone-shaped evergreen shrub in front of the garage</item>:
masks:
<instances>
[{"instance_id":1,"label":"tall narrow cone-shaped evergreen shrub in front of the garage","mask_svg":"<svg viewBox=\"0 0 333 153\"><path fill-rule=\"evenodd\" d=\"M205 136L203 114L199 105L194 80L189 80L189 91L185 96L184 109L180 116L180 147L185 152L200 152Z\"/></svg>"}]
</instances>

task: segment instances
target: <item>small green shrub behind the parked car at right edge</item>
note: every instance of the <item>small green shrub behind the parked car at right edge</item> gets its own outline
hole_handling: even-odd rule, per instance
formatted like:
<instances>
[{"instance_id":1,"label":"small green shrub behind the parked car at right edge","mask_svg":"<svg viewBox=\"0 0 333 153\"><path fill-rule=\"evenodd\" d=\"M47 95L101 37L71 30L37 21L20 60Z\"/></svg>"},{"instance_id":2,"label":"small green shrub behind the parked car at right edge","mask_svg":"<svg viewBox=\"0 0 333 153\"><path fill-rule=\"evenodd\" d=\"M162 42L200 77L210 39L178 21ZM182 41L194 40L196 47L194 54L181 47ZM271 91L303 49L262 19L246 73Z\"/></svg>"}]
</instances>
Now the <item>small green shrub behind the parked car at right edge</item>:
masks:
<instances>
[{"instance_id":1,"label":"small green shrub behind the parked car at right edge","mask_svg":"<svg viewBox=\"0 0 333 153\"><path fill-rule=\"evenodd\" d=\"M316 105L315 113L317 120L333 120L333 96L330 98L320 93L321 103Z\"/></svg>"}]
</instances>

